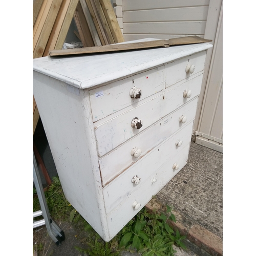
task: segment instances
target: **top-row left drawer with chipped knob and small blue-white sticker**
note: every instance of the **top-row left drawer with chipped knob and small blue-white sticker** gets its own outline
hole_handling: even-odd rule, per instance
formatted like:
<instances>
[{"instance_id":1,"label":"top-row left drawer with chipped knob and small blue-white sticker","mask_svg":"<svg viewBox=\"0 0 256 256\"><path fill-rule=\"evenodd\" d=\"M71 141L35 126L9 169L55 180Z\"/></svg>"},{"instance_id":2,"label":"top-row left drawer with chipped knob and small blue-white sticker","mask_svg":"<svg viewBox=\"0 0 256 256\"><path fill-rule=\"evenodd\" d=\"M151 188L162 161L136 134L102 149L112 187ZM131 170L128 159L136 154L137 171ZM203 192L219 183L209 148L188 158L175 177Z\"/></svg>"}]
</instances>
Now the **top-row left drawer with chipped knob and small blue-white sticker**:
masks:
<instances>
[{"instance_id":1,"label":"top-row left drawer with chipped knob and small blue-white sticker","mask_svg":"<svg viewBox=\"0 0 256 256\"><path fill-rule=\"evenodd\" d=\"M163 89L164 67L158 67L89 91L96 122Z\"/></svg>"}]
</instances>

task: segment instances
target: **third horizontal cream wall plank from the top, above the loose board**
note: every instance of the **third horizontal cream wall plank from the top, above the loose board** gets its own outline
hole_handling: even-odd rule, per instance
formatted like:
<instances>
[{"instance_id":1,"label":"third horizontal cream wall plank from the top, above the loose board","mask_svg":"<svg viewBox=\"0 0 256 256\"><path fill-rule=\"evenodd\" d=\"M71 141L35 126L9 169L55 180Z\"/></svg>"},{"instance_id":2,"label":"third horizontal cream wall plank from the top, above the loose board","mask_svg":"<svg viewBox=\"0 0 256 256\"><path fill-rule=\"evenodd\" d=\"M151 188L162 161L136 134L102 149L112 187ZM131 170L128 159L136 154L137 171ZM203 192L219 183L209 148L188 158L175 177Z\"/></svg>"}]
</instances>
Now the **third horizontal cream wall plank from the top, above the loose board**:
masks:
<instances>
[{"instance_id":1,"label":"third horizontal cream wall plank from the top, above the loose board","mask_svg":"<svg viewBox=\"0 0 256 256\"><path fill-rule=\"evenodd\" d=\"M124 34L204 35L206 21L124 23ZM151 36L152 37L152 36Z\"/></svg>"}]
</instances>

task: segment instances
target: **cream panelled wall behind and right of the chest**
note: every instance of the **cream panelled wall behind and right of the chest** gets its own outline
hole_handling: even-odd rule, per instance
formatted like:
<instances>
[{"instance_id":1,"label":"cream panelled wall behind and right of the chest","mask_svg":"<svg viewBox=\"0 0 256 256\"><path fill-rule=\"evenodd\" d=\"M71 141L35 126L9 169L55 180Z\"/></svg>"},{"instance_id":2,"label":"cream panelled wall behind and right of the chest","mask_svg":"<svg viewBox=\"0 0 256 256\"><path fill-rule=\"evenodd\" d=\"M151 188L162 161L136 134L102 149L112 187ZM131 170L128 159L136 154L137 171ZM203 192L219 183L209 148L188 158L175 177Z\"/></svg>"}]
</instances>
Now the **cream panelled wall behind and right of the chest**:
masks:
<instances>
[{"instance_id":1,"label":"cream panelled wall behind and right of the chest","mask_svg":"<svg viewBox=\"0 0 256 256\"><path fill-rule=\"evenodd\" d=\"M198 35L211 39L194 141L222 152L222 0L111 0L124 40Z\"/></svg>"}]
</instances>

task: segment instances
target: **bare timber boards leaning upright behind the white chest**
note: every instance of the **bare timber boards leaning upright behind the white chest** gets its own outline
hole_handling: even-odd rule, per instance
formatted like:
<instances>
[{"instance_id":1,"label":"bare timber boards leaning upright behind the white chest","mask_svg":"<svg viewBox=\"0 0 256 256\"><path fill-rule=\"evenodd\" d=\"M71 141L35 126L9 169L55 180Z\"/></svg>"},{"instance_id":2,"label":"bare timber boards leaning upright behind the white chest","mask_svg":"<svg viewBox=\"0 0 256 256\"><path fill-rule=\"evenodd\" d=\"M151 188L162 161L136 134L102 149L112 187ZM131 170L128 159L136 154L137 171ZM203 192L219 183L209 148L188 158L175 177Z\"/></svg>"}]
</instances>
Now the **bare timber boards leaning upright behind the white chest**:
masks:
<instances>
[{"instance_id":1,"label":"bare timber boards leaning upright behind the white chest","mask_svg":"<svg viewBox=\"0 0 256 256\"><path fill-rule=\"evenodd\" d=\"M61 50L73 18L83 47L124 41L110 0L34 0L33 58ZM33 134L38 119L33 97Z\"/></svg>"}]
</instances>

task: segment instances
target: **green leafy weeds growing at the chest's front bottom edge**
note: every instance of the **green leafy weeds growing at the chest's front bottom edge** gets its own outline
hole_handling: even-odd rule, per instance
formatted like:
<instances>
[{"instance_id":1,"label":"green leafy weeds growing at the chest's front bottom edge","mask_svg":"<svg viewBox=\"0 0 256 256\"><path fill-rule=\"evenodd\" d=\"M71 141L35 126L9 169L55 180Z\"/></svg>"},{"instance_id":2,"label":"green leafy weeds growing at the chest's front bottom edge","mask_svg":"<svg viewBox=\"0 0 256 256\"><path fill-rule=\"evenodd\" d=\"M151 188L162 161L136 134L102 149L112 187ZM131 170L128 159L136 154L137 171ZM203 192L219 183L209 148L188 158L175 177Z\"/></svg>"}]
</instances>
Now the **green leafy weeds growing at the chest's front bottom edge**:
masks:
<instances>
[{"instance_id":1,"label":"green leafy weeds growing at the chest's front bottom edge","mask_svg":"<svg viewBox=\"0 0 256 256\"><path fill-rule=\"evenodd\" d=\"M150 213L143 208L136 217L122 230L123 234L119 247L123 249L136 248L143 256L166 256L176 252L173 244L186 250L181 236L169 226L167 220L176 222L172 209L166 205L166 214Z\"/></svg>"}]
</instances>

